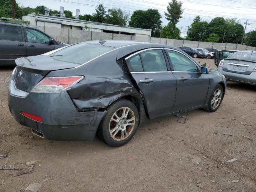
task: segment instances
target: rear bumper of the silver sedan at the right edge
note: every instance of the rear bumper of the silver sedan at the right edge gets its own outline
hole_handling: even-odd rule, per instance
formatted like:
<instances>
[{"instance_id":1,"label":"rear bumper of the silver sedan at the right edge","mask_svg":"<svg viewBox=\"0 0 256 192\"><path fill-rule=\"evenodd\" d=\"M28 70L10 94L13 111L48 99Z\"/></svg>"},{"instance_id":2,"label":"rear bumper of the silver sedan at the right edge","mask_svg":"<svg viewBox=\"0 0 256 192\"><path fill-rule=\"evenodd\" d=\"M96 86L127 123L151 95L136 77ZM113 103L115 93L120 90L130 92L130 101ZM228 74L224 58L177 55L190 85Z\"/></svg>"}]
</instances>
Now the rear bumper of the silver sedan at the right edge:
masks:
<instances>
[{"instance_id":1,"label":"rear bumper of the silver sedan at the right edge","mask_svg":"<svg viewBox=\"0 0 256 192\"><path fill-rule=\"evenodd\" d=\"M256 73L252 72L250 75L226 72L222 68L218 67L218 72L221 72L228 81L246 83L256 85Z\"/></svg>"}]
</instances>

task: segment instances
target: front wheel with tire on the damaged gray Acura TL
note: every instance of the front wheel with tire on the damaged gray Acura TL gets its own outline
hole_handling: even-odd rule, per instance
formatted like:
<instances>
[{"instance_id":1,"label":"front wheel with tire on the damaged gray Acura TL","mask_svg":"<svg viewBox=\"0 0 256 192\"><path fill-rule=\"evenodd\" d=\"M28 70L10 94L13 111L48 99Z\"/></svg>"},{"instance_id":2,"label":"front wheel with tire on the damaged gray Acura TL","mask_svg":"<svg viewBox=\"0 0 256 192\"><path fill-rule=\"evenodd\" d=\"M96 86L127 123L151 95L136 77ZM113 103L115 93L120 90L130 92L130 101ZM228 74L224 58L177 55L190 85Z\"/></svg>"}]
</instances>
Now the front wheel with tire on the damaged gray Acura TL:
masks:
<instances>
[{"instance_id":1,"label":"front wheel with tire on the damaged gray Acura TL","mask_svg":"<svg viewBox=\"0 0 256 192\"><path fill-rule=\"evenodd\" d=\"M214 91L212 92L209 98L208 105L206 108L204 108L204 110L208 112L215 112L220 107L223 97L224 97L223 88L220 84L218 84L214 88Z\"/></svg>"}]
</instances>

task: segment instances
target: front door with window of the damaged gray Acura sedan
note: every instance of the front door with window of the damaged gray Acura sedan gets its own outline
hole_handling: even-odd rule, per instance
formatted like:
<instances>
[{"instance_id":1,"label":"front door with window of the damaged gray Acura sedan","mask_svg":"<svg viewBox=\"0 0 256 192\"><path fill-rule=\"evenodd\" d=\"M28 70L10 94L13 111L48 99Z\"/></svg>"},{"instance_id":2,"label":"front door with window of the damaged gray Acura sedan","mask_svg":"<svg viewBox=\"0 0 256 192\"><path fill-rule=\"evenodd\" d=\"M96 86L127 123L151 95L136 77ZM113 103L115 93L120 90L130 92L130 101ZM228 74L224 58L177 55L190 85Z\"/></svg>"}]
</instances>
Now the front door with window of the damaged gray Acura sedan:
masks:
<instances>
[{"instance_id":1,"label":"front door with window of the damaged gray Acura sedan","mask_svg":"<svg viewBox=\"0 0 256 192\"><path fill-rule=\"evenodd\" d=\"M166 49L177 79L177 93L172 112L204 105L209 88L209 77L188 56Z\"/></svg>"}]
</instances>

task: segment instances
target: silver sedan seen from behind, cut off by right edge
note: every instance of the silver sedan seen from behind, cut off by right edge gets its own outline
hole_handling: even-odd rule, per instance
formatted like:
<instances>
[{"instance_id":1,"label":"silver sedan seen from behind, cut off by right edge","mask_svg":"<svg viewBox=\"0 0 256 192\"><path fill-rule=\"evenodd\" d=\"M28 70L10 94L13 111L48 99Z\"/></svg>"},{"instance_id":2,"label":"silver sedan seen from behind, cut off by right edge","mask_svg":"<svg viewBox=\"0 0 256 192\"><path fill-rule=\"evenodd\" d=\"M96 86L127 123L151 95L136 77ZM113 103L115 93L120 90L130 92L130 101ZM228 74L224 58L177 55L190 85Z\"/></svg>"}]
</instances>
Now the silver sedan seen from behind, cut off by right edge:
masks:
<instances>
[{"instance_id":1,"label":"silver sedan seen from behind, cut off by right edge","mask_svg":"<svg viewBox=\"0 0 256 192\"><path fill-rule=\"evenodd\" d=\"M220 61L218 71L228 81L256 85L256 51L234 52Z\"/></svg>"}]
</instances>

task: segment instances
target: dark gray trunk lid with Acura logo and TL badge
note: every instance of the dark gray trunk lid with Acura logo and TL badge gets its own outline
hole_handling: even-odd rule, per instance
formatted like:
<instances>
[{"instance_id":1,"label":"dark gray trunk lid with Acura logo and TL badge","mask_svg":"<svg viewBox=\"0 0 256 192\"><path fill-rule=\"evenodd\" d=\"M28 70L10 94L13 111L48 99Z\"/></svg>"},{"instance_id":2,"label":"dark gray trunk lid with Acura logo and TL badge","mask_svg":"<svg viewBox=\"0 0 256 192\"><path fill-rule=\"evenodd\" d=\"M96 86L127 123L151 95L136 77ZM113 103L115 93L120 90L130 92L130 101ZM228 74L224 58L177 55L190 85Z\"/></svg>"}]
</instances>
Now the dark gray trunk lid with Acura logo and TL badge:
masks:
<instances>
[{"instance_id":1,"label":"dark gray trunk lid with Acura logo and TL badge","mask_svg":"<svg viewBox=\"0 0 256 192\"><path fill-rule=\"evenodd\" d=\"M50 71L74 68L79 64L55 60L48 55L18 58L14 73L17 89L30 92Z\"/></svg>"}]
</instances>

